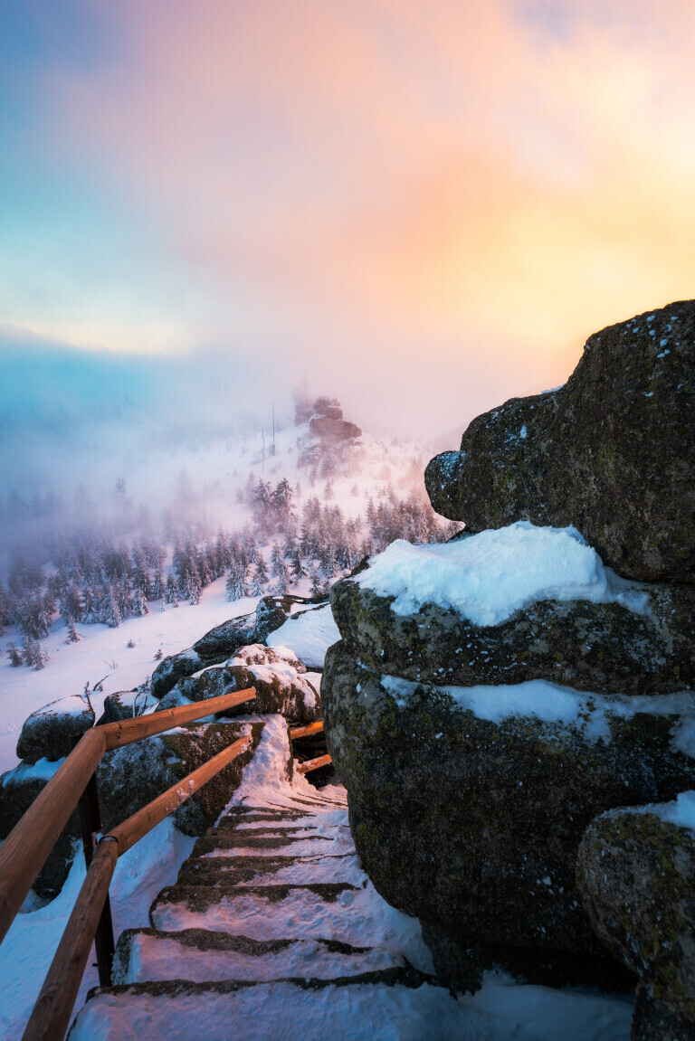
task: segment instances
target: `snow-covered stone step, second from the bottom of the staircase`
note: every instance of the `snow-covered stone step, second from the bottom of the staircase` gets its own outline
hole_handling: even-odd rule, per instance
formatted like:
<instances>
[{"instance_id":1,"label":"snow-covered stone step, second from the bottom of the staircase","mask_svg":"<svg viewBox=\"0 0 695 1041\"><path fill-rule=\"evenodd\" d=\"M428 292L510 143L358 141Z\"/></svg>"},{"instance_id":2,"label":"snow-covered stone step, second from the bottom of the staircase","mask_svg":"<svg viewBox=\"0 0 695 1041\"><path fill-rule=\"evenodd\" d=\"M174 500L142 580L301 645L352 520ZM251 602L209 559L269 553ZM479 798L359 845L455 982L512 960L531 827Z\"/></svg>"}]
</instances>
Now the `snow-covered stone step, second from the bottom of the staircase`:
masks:
<instances>
[{"instance_id":1,"label":"snow-covered stone step, second from the bottom of the staircase","mask_svg":"<svg viewBox=\"0 0 695 1041\"><path fill-rule=\"evenodd\" d=\"M125 930L116 948L115 984L190 980L327 980L403 966L402 956L336 940L249 940L206 930Z\"/></svg>"}]
</instances>

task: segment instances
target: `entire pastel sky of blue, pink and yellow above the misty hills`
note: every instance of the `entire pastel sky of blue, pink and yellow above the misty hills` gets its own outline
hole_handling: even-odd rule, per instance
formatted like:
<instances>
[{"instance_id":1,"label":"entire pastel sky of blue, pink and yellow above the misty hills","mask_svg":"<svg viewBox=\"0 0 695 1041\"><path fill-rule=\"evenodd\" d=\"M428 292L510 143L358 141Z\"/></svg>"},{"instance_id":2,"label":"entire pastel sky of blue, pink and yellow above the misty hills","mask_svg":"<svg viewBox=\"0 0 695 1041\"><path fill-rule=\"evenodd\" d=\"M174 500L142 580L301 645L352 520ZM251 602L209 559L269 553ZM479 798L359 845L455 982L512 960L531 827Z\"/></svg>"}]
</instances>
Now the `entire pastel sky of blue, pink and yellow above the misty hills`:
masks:
<instances>
[{"instance_id":1,"label":"entire pastel sky of blue, pink and yellow above the misty hills","mask_svg":"<svg viewBox=\"0 0 695 1041\"><path fill-rule=\"evenodd\" d=\"M305 378L455 447L695 295L694 51L691 0L0 0L0 418Z\"/></svg>"}]
</instances>

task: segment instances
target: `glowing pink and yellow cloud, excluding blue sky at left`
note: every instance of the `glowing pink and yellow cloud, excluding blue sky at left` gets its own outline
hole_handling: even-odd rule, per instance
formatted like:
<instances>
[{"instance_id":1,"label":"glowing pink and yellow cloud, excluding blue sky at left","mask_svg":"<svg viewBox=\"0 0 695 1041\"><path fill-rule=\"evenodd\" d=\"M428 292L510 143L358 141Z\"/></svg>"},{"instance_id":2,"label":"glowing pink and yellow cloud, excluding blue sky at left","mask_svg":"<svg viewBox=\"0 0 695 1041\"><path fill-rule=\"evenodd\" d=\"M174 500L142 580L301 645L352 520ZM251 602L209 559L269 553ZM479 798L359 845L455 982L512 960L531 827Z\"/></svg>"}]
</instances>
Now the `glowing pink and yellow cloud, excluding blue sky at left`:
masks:
<instances>
[{"instance_id":1,"label":"glowing pink and yellow cloud, excluding blue sky at left","mask_svg":"<svg viewBox=\"0 0 695 1041\"><path fill-rule=\"evenodd\" d=\"M340 330L384 372L464 345L474 383L477 345L542 382L695 275L693 6L554 6L110 5L124 60L50 80L55 146L129 186L221 334L241 295L307 362Z\"/></svg>"}]
</instances>

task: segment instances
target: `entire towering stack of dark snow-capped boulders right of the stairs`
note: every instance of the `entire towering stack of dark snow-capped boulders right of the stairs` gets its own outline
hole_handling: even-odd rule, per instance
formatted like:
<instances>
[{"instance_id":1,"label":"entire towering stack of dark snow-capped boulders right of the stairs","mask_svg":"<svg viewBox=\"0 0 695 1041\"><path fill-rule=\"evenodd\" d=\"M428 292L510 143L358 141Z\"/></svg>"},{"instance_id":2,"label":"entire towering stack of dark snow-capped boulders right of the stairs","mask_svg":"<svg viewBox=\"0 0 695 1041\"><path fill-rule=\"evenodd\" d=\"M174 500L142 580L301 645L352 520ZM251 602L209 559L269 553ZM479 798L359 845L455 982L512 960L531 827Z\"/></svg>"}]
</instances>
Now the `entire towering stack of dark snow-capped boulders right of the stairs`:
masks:
<instances>
[{"instance_id":1,"label":"entire towering stack of dark snow-capped boulders right of the stairs","mask_svg":"<svg viewBox=\"0 0 695 1041\"><path fill-rule=\"evenodd\" d=\"M438 975L639 980L639 1041L695 1037L695 807L652 812L695 804L694 373L676 303L474 420L425 478L466 531L336 583L321 685L359 857Z\"/></svg>"}]
</instances>

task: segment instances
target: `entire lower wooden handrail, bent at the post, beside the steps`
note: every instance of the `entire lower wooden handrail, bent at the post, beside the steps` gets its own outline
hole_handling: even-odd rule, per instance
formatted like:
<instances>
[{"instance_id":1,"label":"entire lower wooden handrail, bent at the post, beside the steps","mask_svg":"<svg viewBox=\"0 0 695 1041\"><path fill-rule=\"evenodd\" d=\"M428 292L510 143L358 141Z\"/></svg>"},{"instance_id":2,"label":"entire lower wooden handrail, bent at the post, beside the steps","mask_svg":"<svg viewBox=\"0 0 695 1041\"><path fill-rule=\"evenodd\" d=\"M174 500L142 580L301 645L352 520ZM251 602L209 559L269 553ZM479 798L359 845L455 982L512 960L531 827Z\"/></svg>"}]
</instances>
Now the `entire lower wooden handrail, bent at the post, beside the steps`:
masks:
<instances>
[{"instance_id":1,"label":"entire lower wooden handrail, bent at the post, beside the steps","mask_svg":"<svg viewBox=\"0 0 695 1041\"><path fill-rule=\"evenodd\" d=\"M255 690L252 696L255 696ZM207 704L217 700L209 699ZM22 1035L22 1041L63 1041L65 1038L118 858L190 798L198 788L246 752L251 742L250 735L234 741L103 836Z\"/></svg>"}]
</instances>

